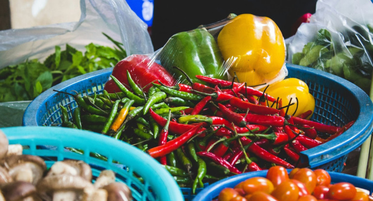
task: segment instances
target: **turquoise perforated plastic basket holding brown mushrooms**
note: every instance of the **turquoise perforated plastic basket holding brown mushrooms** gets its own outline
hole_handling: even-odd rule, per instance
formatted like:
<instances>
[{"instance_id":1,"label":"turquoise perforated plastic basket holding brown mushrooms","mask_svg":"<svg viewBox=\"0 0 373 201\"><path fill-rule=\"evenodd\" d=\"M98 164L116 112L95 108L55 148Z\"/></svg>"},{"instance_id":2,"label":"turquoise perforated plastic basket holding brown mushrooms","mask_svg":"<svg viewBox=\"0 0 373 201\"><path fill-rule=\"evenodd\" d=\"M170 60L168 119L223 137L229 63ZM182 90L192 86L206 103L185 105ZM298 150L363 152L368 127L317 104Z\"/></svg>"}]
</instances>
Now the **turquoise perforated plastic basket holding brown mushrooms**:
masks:
<instances>
[{"instance_id":1,"label":"turquoise perforated plastic basket holding brown mushrooms","mask_svg":"<svg viewBox=\"0 0 373 201\"><path fill-rule=\"evenodd\" d=\"M61 127L9 127L1 130L9 144L22 144L23 154L43 157L47 167L69 158L90 164L94 178L104 169L114 171L117 181L130 187L135 201L183 200L171 174L154 158L130 144L91 131ZM70 152L66 147L82 149L84 154ZM93 158L90 153L98 153L107 160Z\"/></svg>"}]
</instances>

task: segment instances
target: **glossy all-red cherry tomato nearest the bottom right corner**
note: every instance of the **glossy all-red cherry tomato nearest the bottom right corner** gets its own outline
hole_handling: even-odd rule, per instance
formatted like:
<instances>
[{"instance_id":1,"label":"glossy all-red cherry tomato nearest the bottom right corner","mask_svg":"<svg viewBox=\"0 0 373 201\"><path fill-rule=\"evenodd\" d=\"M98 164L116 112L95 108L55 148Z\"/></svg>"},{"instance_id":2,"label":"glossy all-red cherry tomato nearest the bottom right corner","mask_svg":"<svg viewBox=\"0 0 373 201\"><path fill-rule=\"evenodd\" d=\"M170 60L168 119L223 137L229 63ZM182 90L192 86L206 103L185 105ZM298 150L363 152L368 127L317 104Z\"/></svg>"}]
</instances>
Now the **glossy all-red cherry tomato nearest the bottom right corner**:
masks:
<instances>
[{"instance_id":1,"label":"glossy all-red cherry tomato nearest the bottom right corner","mask_svg":"<svg viewBox=\"0 0 373 201\"><path fill-rule=\"evenodd\" d=\"M356 188L347 182L340 182L329 187L328 196L335 200L350 200L355 197Z\"/></svg>"}]
</instances>

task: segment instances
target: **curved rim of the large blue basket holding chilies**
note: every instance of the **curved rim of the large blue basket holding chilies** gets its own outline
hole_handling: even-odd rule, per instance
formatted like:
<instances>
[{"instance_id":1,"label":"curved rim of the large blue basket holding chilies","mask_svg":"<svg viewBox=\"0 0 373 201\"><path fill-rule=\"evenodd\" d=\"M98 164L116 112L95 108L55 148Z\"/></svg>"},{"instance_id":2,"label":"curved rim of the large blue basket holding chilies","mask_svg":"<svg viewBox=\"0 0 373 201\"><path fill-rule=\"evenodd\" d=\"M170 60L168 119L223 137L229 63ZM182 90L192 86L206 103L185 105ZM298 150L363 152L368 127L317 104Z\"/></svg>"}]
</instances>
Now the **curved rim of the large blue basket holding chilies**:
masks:
<instances>
[{"instance_id":1,"label":"curved rim of the large blue basket holding chilies","mask_svg":"<svg viewBox=\"0 0 373 201\"><path fill-rule=\"evenodd\" d=\"M347 155L352 150L361 145L369 137L369 135L373 131L373 103L372 100L370 100L369 96L361 88L331 73L294 64L286 64L286 67L289 73L297 72L313 75L318 77L319 79L324 79L325 81L330 82L333 85L339 86L341 90L351 93L353 95L353 98L359 104L359 115L357 116L356 122L350 129L348 129L342 135L336 137L335 139L325 144L321 144L317 147L303 151L300 154L302 160L309 161L309 165L311 168L326 164L330 161ZM34 100L32 100L30 105L26 108L23 115L23 125L40 126L36 121L38 115L41 115L40 107L43 107L47 100L53 99L53 97L57 95L57 92L53 91L53 89L63 91L66 88L76 85L78 82L84 82L96 76L108 75L109 77L112 69L113 68L108 68L86 73L62 82L59 85L53 86L52 88L46 90ZM330 154L331 152L333 152L332 155Z\"/></svg>"}]
</instances>

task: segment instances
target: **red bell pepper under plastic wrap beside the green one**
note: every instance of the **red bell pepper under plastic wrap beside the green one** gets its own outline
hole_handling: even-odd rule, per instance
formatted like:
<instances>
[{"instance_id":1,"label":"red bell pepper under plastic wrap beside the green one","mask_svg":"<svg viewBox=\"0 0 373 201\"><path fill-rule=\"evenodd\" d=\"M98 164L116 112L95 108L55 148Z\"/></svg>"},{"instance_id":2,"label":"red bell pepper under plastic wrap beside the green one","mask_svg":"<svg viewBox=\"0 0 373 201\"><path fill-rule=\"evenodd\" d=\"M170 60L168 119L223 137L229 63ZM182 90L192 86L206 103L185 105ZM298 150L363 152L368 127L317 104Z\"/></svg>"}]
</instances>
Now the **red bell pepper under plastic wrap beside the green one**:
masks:
<instances>
[{"instance_id":1,"label":"red bell pepper under plastic wrap beside the green one","mask_svg":"<svg viewBox=\"0 0 373 201\"><path fill-rule=\"evenodd\" d=\"M125 57L115 65L111 74L121 83L128 86L127 70L135 83L139 84L141 87L146 86L144 88L145 92L152 86L150 83L155 81L155 83L159 84L156 80L161 81L166 86L173 86L176 84L176 80L163 66L155 63L155 61L151 60L151 58L146 55L131 55ZM113 80L109 80L105 84L104 89L109 93L120 92L120 89Z\"/></svg>"}]
</instances>

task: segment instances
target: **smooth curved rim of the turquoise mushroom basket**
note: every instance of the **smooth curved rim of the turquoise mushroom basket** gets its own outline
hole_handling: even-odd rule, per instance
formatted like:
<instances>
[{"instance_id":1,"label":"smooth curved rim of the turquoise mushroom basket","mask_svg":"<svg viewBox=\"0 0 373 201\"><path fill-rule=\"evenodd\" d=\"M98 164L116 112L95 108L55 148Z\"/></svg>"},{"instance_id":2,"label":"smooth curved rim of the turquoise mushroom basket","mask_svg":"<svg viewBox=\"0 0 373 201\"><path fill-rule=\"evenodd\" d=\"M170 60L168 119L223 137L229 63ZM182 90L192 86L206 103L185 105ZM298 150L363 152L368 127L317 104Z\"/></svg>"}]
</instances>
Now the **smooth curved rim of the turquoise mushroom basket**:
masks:
<instances>
[{"instance_id":1,"label":"smooth curved rim of the turquoise mushroom basket","mask_svg":"<svg viewBox=\"0 0 373 201\"><path fill-rule=\"evenodd\" d=\"M141 175L155 192L158 200L183 200L181 190L171 174L154 158L130 144L88 130L62 127L8 127L0 130L7 136L9 144L25 144L27 142L39 145L38 141L50 140L59 142L60 145L58 147L85 147L82 149L88 150L87 153L102 153L104 156L119 162L126 161L127 164L123 162L122 164L130 166L134 172ZM110 149L108 149L108 146L110 146ZM112 152L110 150L116 151ZM35 152L35 150L31 150L31 155L37 155ZM63 155L67 152L60 153ZM90 164L92 165L91 162ZM93 163L93 165L95 164Z\"/></svg>"}]
</instances>

